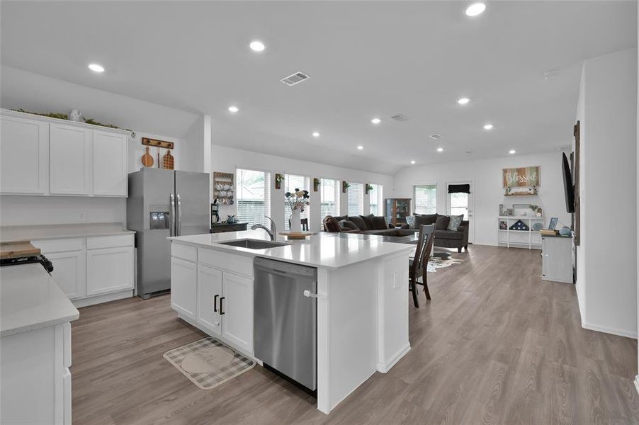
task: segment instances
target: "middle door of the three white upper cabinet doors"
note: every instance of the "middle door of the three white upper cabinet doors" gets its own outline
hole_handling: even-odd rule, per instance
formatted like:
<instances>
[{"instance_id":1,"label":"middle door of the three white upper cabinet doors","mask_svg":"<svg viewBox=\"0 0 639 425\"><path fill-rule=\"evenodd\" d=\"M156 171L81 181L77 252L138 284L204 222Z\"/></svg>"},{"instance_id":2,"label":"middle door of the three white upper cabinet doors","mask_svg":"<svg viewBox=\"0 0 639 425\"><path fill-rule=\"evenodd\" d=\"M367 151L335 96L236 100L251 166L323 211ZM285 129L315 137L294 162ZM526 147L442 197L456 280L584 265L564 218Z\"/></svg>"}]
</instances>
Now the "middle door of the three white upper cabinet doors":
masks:
<instances>
[{"instance_id":1,"label":"middle door of the three white upper cabinet doors","mask_svg":"<svg viewBox=\"0 0 639 425\"><path fill-rule=\"evenodd\" d=\"M90 195L93 130L51 124L49 137L50 193Z\"/></svg>"}]
</instances>

